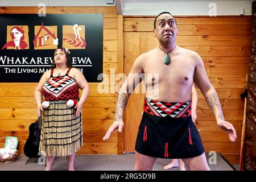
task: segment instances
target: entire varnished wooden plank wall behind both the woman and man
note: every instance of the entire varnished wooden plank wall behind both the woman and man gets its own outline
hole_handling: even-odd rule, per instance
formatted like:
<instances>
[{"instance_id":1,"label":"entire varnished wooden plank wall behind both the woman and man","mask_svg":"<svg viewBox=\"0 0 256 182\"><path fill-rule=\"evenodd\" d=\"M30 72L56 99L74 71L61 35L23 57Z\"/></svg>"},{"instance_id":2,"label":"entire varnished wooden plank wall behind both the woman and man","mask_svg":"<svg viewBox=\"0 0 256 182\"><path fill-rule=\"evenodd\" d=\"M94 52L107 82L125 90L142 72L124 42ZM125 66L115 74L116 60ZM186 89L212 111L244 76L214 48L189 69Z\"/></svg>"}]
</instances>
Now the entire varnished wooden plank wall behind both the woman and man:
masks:
<instances>
[{"instance_id":1,"label":"entire varnished wooden plank wall behind both the woman and man","mask_svg":"<svg viewBox=\"0 0 256 182\"><path fill-rule=\"evenodd\" d=\"M38 7L1 7L0 13L38 13ZM152 35L154 18L118 18L115 7L47 7L47 13L104 14L103 70L108 75L110 68L114 68L115 73L121 72L122 67L130 68L138 55L158 45ZM123 27L120 27L122 23ZM243 119L240 94L244 91L250 56L250 16L177 17L177 24L177 44L201 55L210 81L220 97L224 116L237 130L237 141L229 142L228 135L218 129L207 102L197 89L199 102L196 126L201 130L205 151L222 152L230 162L238 164ZM28 137L28 127L38 118L34 101L36 84L0 83L0 138L17 136L21 154ZM90 94L82 110L84 146L78 154L121 154L122 146L119 143L121 141L122 144L122 135L117 134L117 131L110 140L102 141L113 122L117 94L100 94L97 92L97 83L89 85ZM0 141L0 147L3 141Z\"/></svg>"}]
</instances>

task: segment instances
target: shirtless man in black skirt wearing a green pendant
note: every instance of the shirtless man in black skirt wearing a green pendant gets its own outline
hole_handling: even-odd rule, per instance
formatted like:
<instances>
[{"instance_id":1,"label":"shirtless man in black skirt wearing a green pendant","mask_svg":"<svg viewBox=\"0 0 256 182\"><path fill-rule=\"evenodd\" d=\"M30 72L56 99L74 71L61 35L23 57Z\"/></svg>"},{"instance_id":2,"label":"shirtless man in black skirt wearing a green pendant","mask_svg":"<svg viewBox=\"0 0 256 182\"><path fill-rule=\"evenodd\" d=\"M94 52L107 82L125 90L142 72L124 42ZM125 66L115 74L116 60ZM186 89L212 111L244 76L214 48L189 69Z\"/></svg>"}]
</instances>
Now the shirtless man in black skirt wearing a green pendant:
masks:
<instances>
[{"instance_id":1,"label":"shirtless man in black skirt wearing a green pendant","mask_svg":"<svg viewBox=\"0 0 256 182\"><path fill-rule=\"evenodd\" d=\"M224 119L201 57L194 51L176 46L178 30L174 16L168 12L156 16L154 34L159 47L140 55L130 71L131 74L158 73L158 82L153 77L145 85L153 85L159 90L158 95L146 92L135 144L134 170L152 170L156 158L183 159L189 170L209 170L203 144L191 119L193 82L204 94L217 125L228 133L232 142L236 140L236 130ZM134 85L131 74L118 92L114 122L104 140L109 139L115 129L122 131L123 111L130 96L127 90Z\"/></svg>"}]
</instances>

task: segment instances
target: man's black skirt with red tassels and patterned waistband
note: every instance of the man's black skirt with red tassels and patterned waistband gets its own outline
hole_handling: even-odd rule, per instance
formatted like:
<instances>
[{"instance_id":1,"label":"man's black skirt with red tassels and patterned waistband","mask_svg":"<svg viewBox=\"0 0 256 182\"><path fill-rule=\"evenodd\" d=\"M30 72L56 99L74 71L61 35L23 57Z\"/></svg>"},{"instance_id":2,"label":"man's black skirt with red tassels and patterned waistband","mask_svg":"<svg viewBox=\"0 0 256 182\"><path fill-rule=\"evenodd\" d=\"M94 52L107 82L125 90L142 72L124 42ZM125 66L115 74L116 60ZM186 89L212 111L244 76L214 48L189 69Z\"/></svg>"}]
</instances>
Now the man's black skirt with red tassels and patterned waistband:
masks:
<instances>
[{"instance_id":1,"label":"man's black skirt with red tassels and patterned waistband","mask_svg":"<svg viewBox=\"0 0 256 182\"><path fill-rule=\"evenodd\" d=\"M191 118L191 101L160 102L145 98L135 150L168 159L203 154L204 147Z\"/></svg>"}]
</instances>

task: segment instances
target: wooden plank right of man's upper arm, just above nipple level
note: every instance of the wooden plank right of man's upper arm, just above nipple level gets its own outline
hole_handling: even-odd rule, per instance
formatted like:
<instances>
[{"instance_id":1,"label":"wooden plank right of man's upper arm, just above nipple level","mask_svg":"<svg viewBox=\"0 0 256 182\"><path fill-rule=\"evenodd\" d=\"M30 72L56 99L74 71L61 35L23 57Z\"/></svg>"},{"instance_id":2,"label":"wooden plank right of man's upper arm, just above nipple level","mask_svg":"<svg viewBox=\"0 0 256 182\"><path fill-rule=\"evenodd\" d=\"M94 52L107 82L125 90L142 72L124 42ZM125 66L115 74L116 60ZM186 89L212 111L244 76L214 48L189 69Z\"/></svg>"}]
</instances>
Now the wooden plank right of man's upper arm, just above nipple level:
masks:
<instances>
[{"instance_id":1,"label":"wooden plank right of man's upper arm, just above nipple level","mask_svg":"<svg viewBox=\"0 0 256 182\"><path fill-rule=\"evenodd\" d=\"M227 71L228 70L228 71ZM248 73L248 67L228 67L228 68L205 68L208 77L222 77L222 78L245 78Z\"/></svg>"}]
</instances>

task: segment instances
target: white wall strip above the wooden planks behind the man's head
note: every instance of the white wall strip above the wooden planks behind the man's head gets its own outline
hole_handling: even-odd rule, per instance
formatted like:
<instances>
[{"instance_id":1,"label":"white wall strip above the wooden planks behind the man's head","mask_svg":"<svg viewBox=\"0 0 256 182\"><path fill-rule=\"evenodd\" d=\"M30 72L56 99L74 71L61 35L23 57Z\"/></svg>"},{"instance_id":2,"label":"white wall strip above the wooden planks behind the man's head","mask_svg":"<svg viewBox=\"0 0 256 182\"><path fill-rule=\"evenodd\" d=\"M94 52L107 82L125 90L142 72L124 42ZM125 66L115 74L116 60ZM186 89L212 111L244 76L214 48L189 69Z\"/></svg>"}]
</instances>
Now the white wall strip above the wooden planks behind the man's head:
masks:
<instances>
[{"instance_id":1,"label":"white wall strip above the wooden planks behind the man's head","mask_svg":"<svg viewBox=\"0 0 256 182\"><path fill-rule=\"evenodd\" d=\"M210 4L213 3L213 4ZM123 15L157 15L169 11L172 15L251 15L252 1L181 1L181 2L122 2ZM210 5L210 7L209 7ZM210 14L209 14L210 13Z\"/></svg>"}]
</instances>

